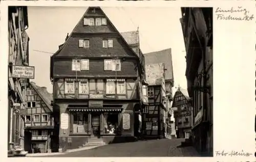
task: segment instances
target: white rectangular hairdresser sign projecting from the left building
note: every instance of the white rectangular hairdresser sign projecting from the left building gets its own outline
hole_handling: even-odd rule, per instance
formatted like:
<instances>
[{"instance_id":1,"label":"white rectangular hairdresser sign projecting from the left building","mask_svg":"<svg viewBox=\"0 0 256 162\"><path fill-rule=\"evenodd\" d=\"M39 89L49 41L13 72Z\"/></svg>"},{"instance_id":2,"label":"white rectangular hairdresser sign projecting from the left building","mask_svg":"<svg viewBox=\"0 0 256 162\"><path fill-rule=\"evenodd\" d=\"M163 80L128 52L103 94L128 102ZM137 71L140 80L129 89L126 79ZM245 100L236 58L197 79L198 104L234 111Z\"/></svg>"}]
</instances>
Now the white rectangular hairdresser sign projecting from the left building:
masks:
<instances>
[{"instance_id":1,"label":"white rectangular hairdresser sign projecting from the left building","mask_svg":"<svg viewBox=\"0 0 256 162\"><path fill-rule=\"evenodd\" d=\"M34 66L12 66L12 77L34 79Z\"/></svg>"}]
</instances>

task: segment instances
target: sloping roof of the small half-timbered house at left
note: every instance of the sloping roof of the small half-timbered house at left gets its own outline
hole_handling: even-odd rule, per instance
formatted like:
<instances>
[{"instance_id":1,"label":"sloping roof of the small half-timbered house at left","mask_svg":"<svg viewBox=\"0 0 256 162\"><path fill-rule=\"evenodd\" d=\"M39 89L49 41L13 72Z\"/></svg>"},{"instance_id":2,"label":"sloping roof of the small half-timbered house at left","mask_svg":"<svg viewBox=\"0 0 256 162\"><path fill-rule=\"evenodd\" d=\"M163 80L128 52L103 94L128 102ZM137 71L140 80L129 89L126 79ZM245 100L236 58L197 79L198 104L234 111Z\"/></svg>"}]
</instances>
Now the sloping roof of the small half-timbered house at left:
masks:
<instances>
[{"instance_id":1,"label":"sloping roof of the small half-timbered house at left","mask_svg":"<svg viewBox=\"0 0 256 162\"><path fill-rule=\"evenodd\" d=\"M51 101L53 99L53 96L51 93L49 93L45 87L39 87L37 86L34 82L30 82L30 85L34 88L36 93L40 96L40 98L45 102L47 105L48 109L52 112L52 106L51 106Z\"/></svg>"}]
</instances>

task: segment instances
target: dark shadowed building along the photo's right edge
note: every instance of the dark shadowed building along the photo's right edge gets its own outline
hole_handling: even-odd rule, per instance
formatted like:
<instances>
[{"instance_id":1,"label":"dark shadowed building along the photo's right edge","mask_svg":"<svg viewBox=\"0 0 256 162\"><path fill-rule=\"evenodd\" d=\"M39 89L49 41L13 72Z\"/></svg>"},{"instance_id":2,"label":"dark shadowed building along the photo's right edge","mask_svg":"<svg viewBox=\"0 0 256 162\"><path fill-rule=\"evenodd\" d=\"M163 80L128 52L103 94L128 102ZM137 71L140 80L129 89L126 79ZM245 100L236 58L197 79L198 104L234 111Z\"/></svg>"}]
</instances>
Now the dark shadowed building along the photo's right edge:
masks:
<instances>
[{"instance_id":1,"label":"dark shadowed building along the photo's right edge","mask_svg":"<svg viewBox=\"0 0 256 162\"><path fill-rule=\"evenodd\" d=\"M195 147L213 155L212 8L182 8L187 90L193 98Z\"/></svg>"}]
</instances>

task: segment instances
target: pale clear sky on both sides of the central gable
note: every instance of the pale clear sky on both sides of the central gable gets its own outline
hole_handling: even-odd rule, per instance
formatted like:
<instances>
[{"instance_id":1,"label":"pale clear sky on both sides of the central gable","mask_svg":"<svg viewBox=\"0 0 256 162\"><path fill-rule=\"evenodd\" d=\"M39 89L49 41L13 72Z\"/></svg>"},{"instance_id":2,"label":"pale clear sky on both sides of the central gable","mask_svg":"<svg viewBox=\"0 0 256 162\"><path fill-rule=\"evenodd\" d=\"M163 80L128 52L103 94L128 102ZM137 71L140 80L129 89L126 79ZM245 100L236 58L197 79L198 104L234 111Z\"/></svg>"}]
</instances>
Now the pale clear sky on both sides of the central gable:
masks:
<instances>
[{"instance_id":1,"label":"pale clear sky on both sides of the central gable","mask_svg":"<svg viewBox=\"0 0 256 162\"><path fill-rule=\"evenodd\" d=\"M35 66L35 82L52 93L50 57L71 33L87 7L28 7L29 64ZM139 27L143 53L172 48L174 92L178 85L187 88L185 46L180 8L102 7L119 32Z\"/></svg>"}]
</instances>

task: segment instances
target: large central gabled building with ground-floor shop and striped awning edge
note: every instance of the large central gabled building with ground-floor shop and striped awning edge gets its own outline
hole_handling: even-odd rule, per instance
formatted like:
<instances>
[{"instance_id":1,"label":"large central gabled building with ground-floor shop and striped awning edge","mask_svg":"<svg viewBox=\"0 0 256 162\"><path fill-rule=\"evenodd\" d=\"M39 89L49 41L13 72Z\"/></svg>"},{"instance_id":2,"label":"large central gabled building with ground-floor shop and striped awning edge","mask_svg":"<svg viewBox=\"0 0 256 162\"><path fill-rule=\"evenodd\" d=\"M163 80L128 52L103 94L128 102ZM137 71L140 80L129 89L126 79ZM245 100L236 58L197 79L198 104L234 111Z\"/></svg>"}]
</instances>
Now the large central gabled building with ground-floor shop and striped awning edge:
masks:
<instances>
[{"instance_id":1,"label":"large central gabled building with ground-floor shop and striped awning edge","mask_svg":"<svg viewBox=\"0 0 256 162\"><path fill-rule=\"evenodd\" d=\"M58 148L78 148L92 138L133 139L139 133L143 67L138 55L139 48L124 40L100 7L88 8L51 57Z\"/></svg>"}]
</instances>

